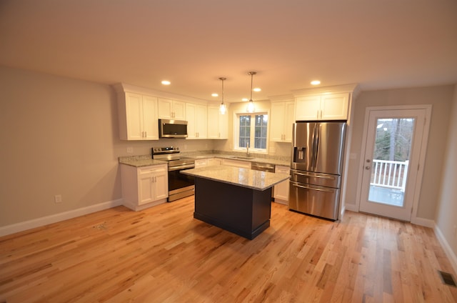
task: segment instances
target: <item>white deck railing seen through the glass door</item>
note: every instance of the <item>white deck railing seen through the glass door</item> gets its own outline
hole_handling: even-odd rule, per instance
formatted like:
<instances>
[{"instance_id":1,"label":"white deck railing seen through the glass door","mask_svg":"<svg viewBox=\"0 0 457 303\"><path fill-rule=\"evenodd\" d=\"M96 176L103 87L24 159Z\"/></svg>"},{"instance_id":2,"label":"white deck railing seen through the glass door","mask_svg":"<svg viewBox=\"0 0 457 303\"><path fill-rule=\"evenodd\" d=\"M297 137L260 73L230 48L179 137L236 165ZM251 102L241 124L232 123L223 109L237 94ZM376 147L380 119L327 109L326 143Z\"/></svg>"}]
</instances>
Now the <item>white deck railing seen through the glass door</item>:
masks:
<instances>
[{"instance_id":1,"label":"white deck railing seen through the glass door","mask_svg":"<svg viewBox=\"0 0 457 303\"><path fill-rule=\"evenodd\" d=\"M370 184L405 191L408 163L400 161L373 160Z\"/></svg>"}]
</instances>

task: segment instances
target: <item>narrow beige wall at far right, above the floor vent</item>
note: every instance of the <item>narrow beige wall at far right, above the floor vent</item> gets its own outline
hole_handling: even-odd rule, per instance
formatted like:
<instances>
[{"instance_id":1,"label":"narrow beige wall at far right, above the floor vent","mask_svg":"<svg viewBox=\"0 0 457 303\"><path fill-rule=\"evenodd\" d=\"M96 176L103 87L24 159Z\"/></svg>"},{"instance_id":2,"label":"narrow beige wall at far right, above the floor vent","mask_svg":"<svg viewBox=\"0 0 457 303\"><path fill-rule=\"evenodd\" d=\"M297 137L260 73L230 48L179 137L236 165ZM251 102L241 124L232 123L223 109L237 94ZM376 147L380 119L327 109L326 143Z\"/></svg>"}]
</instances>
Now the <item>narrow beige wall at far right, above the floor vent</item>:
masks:
<instances>
[{"instance_id":1,"label":"narrow beige wall at far right, above the floor vent","mask_svg":"<svg viewBox=\"0 0 457 303\"><path fill-rule=\"evenodd\" d=\"M447 137L448 146L444 157L441 194L438 196L435 222L436 227L446 238L454 256L457 256L457 85L454 88L451 122Z\"/></svg>"}]
</instances>

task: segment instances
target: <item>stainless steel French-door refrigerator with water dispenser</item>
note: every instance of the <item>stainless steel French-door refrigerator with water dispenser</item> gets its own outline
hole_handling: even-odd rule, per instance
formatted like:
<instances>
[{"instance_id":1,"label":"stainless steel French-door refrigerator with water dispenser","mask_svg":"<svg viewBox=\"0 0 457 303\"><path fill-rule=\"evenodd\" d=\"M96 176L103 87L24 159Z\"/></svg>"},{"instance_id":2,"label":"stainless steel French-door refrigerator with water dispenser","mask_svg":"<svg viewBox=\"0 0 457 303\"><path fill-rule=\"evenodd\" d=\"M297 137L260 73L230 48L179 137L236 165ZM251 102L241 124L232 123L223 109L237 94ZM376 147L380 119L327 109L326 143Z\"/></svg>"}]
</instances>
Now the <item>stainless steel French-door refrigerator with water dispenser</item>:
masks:
<instances>
[{"instance_id":1,"label":"stainless steel French-door refrigerator with water dispenser","mask_svg":"<svg viewBox=\"0 0 457 303\"><path fill-rule=\"evenodd\" d=\"M336 220L346 122L293 124L289 209Z\"/></svg>"}]
</instances>

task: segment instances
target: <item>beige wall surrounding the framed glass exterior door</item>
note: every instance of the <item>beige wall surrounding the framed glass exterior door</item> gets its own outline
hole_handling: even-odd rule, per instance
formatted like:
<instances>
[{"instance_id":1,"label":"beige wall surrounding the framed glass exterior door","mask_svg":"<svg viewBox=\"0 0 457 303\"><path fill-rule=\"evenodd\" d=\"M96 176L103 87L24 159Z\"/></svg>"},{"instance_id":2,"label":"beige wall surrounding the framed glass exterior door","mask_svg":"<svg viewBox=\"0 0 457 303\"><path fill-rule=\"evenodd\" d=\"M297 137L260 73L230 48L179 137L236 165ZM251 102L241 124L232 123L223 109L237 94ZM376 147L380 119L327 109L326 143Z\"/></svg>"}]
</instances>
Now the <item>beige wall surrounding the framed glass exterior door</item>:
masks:
<instances>
[{"instance_id":1,"label":"beige wall surrounding the framed glass exterior door","mask_svg":"<svg viewBox=\"0 0 457 303\"><path fill-rule=\"evenodd\" d=\"M430 86L412 89L389 89L382 91L363 91L356 99L353 119L352 159L347 177L348 189L346 205L356 204L357 179L363 134L363 121L367 106L432 104L431 128L428 136L426 167L418 203L418 218L435 219L436 204L441 187L443 156L446 150L448 123L450 119L453 86Z\"/></svg>"}]
</instances>

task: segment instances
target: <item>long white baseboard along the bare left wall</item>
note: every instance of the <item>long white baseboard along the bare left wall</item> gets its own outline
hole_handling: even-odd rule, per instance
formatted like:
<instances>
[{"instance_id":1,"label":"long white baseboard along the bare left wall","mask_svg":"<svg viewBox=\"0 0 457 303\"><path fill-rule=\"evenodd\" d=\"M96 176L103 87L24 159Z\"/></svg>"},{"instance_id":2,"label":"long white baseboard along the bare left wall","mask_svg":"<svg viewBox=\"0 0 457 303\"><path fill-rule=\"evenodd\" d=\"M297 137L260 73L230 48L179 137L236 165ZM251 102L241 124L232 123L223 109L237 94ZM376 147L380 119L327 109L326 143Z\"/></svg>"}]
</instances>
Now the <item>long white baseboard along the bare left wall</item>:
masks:
<instances>
[{"instance_id":1,"label":"long white baseboard along the bare left wall","mask_svg":"<svg viewBox=\"0 0 457 303\"><path fill-rule=\"evenodd\" d=\"M66 219L81 217L84 216L84 214L99 212L101 210L109 209L111 207L118 207L119 205L122 205L122 201L122 199L117 199L109 202L91 205L89 207L82 207L80 209L70 210L68 212L61 212L60 214L51 214L50 216L31 219L26 222L19 222L16 224L6 225L5 227L0 227L0 237L6 236L8 234L15 234L16 232L23 232L27 229L42 227L44 225L64 221Z\"/></svg>"}]
</instances>

